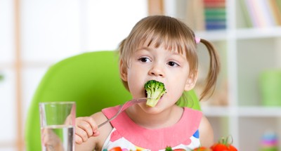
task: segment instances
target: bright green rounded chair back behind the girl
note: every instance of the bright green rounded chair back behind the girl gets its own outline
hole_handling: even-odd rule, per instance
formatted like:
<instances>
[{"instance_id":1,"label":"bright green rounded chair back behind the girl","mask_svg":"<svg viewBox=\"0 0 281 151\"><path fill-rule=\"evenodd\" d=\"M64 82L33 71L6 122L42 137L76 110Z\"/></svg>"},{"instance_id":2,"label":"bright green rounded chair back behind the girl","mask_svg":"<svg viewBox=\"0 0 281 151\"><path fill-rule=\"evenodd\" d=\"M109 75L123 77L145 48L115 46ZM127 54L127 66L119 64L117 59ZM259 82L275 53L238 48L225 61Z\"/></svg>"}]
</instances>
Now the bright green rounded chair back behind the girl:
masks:
<instances>
[{"instance_id":1,"label":"bright green rounded chair back behind the girl","mask_svg":"<svg viewBox=\"0 0 281 151\"><path fill-rule=\"evenodd\" d=\"M186 93L192 97L192 108L200 110L194 91ZM75 101L77 117L82 117L130 99L130 93L119 78L115 51L96 51L66 58L48 69L34 93L25 125L26 150L41 150L39 102Z\"/></svg>"}]
</instances>

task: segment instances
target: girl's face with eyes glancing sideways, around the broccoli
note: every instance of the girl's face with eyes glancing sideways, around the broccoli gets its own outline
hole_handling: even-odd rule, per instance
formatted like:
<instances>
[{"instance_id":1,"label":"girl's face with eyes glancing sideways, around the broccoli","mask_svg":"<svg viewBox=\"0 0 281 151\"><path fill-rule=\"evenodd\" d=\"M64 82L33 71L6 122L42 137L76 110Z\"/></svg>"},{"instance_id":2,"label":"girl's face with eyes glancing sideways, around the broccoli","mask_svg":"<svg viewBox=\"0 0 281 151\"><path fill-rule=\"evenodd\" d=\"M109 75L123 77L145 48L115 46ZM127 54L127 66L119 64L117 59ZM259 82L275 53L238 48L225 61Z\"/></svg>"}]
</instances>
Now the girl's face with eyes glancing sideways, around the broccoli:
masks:
<instances>
[{"instance_id":1,"label":"girl's face with eyes glancing sideways, around the broccoli","mask_svg":"<svg viewBox=\"0 0 281 151\"><path fill-rule=\"evenodd\" d=\"M122 67L125 65L121 62L120 69ZM154 79L163 82L166 93L150 110L164 110L174 105L184 90L193 88L196 78L189 76L189 70L185 53L168 51L164 46L143 47L131 55L129 67L121 70L121 77L128 82L133 98L145 97L144 85L147 81Z\"/></svg>"}]
</instances>

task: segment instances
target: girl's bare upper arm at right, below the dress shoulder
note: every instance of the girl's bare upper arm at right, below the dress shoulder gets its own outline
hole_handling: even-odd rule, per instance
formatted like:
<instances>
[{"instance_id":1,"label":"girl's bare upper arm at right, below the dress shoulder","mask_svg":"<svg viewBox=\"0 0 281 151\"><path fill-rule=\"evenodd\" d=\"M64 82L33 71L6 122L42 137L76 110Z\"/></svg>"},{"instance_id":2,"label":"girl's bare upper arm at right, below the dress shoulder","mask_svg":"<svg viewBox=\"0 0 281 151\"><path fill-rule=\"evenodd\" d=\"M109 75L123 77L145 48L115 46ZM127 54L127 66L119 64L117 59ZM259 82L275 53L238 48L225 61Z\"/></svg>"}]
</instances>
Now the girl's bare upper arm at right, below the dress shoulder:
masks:
<instances>
[{"instance_id":1,"label":"girl's bare upper arm at right, below the dress shoulder","mask_svg":"<svg viewBox=\"0 0 281 151\"><path fill-rule=\"evenodd\" d=\"M214 131L208 119L203 115L200 126L200 143L204 147L211 147L214 144Z\"/></svg>"}]
</instances>

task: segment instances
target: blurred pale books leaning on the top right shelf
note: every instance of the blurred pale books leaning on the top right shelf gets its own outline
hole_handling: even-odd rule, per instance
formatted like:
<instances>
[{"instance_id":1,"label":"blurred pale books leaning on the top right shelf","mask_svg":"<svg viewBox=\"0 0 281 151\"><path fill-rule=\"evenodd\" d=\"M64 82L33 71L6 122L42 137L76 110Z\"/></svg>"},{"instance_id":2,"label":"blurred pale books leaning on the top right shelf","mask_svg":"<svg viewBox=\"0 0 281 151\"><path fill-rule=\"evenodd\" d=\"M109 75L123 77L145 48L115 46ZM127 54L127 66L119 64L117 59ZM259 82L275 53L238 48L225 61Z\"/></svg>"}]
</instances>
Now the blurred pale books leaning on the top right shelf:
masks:
<instances>
[{"instance_id":1,"label":"blurred pale books leaning on the top right shelf","mask_svg":"<svg viewBox=\"0 0 281 151\"><path fill-rule=\"evenodd\" d=\"M280 0L240 0L247 27L281 25Z\"/></svg>"}]
</instances>

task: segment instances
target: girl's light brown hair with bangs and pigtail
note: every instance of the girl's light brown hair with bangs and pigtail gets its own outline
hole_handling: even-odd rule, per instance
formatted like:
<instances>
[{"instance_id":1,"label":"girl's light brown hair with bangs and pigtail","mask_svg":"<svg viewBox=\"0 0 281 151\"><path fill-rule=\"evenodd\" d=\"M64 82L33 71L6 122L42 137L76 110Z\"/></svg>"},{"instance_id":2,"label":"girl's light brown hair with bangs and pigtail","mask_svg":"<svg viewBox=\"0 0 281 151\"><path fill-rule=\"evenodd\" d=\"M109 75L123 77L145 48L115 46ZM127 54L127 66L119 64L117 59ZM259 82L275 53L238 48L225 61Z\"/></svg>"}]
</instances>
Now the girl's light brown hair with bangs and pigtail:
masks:
<instances>
[{"instance_id":1,"label":"girl's light brown hair with bangs and pigtail","mask_svg":"<svg viewBox=\"0 0 281 151\"><path fill-rule=\"evenodd\" d=\"M214 46L204 39L201 39L200 42L207 46L211 58L206 80L207 84L200 96L201 100L210 91L211 93L214 92L220 65ZM177 51L181 54L185 51L190 65L190 75L197 74L198 57L194 32L180 20L165 15L151 15L137 22L129 36L119 44L120 60L122 60L125 67L129 67L131 55L139 46L146 45L146 47L158 48L162 44L169 51ZM129 89L126 81L123 81L123 84Z\"/></svg>"}]
</instances>

